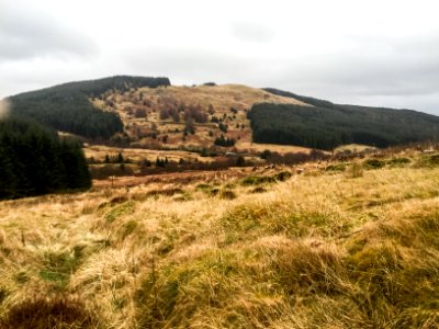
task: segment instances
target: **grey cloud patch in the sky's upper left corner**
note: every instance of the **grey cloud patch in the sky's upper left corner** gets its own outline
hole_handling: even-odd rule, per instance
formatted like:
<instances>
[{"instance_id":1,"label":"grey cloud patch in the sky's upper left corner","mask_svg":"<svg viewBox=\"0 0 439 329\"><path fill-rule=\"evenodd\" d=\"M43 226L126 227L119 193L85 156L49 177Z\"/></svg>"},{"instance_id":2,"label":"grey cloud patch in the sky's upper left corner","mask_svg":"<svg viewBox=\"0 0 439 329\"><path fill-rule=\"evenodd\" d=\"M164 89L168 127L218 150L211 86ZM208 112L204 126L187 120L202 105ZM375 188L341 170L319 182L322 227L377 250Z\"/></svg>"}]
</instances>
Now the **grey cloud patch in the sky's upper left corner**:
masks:
<instances>
[{"instance_id":1,"label":"grey cloud patch in the sky's upper left corner","mask_svg":"<svg viewBox=\"0 0 439 329\"><path fill-rule=\"evenodd\" d=\"M0 4L0 59L20 60L43 56L89 56L94 43L56 18Z\"/></svg>"}]
</instances>

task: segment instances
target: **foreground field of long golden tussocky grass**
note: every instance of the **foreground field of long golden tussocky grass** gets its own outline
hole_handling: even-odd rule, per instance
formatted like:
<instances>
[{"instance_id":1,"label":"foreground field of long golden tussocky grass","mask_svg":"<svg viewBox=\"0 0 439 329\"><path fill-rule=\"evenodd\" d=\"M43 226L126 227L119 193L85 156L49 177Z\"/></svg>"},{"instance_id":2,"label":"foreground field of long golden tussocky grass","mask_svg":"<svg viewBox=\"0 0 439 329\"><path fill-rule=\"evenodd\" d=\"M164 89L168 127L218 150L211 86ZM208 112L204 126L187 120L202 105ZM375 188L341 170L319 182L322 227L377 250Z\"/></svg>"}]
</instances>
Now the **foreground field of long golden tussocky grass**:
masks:
<instances>
[{"instance_id":1,"label":"foreground field of long golden tussocky grass","mask_svg":"<svg viewBox=\"0 0 439 329\"><path fill-rule=\"evenodd\" d=\"M2 202L0 327L438 328L438 157Z\"/></svg>"}]
</instances>

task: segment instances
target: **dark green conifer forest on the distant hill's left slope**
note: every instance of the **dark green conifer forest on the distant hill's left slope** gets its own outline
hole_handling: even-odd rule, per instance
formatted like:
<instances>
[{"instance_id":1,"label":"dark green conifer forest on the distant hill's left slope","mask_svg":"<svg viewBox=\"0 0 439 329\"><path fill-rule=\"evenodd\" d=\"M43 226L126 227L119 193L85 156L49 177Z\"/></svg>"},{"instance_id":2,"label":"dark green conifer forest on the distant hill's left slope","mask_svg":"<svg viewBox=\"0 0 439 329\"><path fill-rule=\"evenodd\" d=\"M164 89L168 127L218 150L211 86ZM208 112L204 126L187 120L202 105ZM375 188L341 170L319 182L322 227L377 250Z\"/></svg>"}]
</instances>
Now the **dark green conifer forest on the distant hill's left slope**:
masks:
<instances>
[{"instance_id":1,"label":"dark green conifer forest on the distant hill's left slope","mask_svg":"<svg viewBox=\"0 0 439 329\"><path fill-rule=\"evenodd\" d=\"M90 138L110 138L123 132L114 111L103 112L90 99L108 90L169 86L167 78L117 76L99 80L70 82L9 98L12 113L32 117L43 125Z\"/></svg>"}]
</instances>

